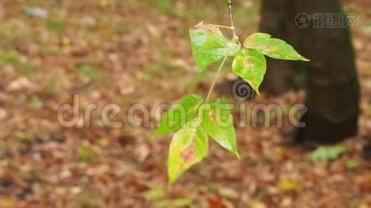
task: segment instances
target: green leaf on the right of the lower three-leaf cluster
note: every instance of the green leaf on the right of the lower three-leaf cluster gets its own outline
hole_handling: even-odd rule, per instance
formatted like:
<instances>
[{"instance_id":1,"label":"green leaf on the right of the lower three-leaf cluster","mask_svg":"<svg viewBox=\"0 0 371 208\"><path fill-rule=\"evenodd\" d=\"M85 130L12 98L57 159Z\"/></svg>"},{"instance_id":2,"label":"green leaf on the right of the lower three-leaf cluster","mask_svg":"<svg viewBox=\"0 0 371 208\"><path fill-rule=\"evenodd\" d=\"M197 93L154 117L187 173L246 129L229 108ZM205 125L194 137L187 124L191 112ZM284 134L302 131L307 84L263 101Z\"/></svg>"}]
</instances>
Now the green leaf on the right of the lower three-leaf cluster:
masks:
<instances>
[{"instance_id":1,"label":"green leaf on the right of the lower three-leaf cluster","mask_svg":"<svg viewBox=\"0 0 371 208\"><path fill-rule=\"evenodd\" d=\"M221 99L205 103L199 108L199 117L208 135L240 158L237 150L236 132L233 127L233 116L228 103Z\"/></svg>"}]
</instances>

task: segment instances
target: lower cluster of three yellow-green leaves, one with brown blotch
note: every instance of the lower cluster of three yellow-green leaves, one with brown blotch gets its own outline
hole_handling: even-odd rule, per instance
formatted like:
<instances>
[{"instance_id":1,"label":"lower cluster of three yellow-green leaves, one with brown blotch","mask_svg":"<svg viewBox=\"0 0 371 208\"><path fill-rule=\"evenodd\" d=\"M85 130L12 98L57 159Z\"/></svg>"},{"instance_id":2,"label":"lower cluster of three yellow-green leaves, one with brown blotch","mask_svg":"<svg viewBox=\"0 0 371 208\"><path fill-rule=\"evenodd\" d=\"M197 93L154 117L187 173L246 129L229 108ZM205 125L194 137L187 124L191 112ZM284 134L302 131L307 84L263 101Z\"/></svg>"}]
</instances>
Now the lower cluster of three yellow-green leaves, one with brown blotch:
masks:
<instances>
[{"instance_id":1,"label":"lower cluster of three yellow-green leaves, one with brown blotch","mask_svg":"<svg viewBox=\"0 0 371 208\"><path fill-rule=\"evenodd\" d=\"M204 101L190 94L163 117L156 137L175 132L167 161L170 183L208 154L208 135L239 157L236 132L229 105L220 100Z\"/></svg>"}]
</instances>

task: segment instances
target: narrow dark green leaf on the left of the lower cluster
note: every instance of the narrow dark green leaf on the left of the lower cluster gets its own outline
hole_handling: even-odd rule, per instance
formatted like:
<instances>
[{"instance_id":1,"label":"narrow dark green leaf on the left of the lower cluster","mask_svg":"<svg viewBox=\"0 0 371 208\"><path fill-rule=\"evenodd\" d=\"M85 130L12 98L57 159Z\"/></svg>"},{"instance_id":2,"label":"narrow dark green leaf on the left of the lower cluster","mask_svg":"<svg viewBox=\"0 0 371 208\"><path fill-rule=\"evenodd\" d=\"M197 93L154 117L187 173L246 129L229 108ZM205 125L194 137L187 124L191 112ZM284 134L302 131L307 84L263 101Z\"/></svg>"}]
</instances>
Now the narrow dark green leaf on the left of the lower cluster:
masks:
<instances>
[{"instance_id":1,"label":"narrow dark green leaf on the left of the lower cluster","mask_svg":"<svg viewBox=\"0 0 371 208\"><path fill-rule=\"evenodd\" d=\"M203 99L195 94L184 96L181 101L174 105L163 117L155 132L155 137L161 137L179 130L188 121L195 119L199 105Z\"/></svg>"}]
</instances>

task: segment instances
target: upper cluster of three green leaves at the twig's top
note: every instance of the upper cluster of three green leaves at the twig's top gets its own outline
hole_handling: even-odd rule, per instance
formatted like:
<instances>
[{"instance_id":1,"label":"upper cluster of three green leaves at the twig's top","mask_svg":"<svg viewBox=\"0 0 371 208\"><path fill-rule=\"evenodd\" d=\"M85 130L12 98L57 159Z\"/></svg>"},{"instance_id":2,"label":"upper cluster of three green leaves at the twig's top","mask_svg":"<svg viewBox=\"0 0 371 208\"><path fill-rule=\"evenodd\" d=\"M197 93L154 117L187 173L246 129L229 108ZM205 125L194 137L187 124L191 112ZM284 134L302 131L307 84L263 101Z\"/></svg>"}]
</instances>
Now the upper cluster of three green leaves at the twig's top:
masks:
<instances>
[{"instance_id":1,"label":"upper cluster of three green leaves at the twig's top","mask_svg":"<svg viewBox=\"0 0 371 208\"><path fill-rule=\"evenodd\" d=\"M234 56L232 71L258 94L267 69L264 55L281 60L308 61L290 44L266 33L254 33L241 45L224 37L218 26L201 22L190 30L190 37L199 72L223 57Z\"/></svg>"}]
</instances>

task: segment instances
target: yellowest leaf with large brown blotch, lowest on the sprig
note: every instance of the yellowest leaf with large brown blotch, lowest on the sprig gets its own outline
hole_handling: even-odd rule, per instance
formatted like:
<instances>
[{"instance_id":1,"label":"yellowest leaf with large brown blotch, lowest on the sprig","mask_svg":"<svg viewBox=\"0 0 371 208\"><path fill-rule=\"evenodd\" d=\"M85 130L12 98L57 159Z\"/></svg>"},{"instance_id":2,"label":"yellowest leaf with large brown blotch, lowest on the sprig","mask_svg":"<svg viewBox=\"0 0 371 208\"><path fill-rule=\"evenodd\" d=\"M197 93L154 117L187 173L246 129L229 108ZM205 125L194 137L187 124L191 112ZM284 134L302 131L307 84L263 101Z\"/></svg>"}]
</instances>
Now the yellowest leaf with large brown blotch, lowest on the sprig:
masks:
<instances>
[{"instance_id":1,"label":"yellowest leaf with large brown blotch, lowest on the sprig","mask_svg":"<svg viewBox=\"0 0 371 208\"><path fill-rule=\"evenodd\" d=\"M200 162L208 154L208 139L204 128L190 127L188 123L181 128L170 143L167 160L167 174L173 184L188 168Z\"/></svg>"}]
</instances>

